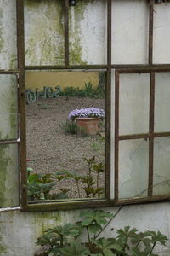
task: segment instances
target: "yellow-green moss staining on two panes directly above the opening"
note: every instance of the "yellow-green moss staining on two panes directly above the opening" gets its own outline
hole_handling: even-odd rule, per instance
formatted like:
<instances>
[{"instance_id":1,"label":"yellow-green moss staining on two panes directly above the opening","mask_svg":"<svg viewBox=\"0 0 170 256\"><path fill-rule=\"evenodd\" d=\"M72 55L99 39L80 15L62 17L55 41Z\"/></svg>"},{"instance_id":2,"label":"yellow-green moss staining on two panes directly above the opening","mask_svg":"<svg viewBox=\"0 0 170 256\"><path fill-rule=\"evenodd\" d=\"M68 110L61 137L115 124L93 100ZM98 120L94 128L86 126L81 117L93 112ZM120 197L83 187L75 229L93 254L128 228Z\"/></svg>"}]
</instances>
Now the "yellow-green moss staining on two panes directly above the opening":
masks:
<instances>
[{"instance_id":1,"label":"yellow-green moss staining on two panes directly above the opening","mask_svg":"<svg viewBox=\"0 0 170 256\"><path fill-rule=\"evenodd\" d=\"M77 0L73 9L70 7L70 63L72 65L87 64L82 61L81 21L89 3L96 0ZM64 64L64 1L26 0L26 15L30 15L31 25L28 26L26 43L26 61L35 64ZM32 16L32 14L37 14ZM33 19L31 19L33 17ZM38 19L39 17L39 19ZM53 17L53 19L52 19ZM46 25L44 26L44 20ZM73 25L74 24L74 25Z\"/></svg>"}]
</instances>

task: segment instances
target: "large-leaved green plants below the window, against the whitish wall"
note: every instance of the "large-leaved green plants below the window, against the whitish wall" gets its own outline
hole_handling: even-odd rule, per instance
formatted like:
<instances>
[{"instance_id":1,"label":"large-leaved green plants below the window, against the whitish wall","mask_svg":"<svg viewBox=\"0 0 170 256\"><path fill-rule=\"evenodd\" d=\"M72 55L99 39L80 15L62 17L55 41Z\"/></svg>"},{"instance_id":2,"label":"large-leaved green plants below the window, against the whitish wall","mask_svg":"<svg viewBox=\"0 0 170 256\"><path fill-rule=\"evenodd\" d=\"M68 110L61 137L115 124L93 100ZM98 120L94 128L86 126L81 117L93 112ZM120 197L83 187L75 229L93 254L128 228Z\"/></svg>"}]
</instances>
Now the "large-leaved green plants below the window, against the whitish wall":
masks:
<instances>
[{"instance_id":1,"label":"large-leaved green plants below the window, against the whitish wall","mask_svg":"<svg viewBox=\"0 0 170 256\"><path fill-rule=\"evenodd\" d=\"M64 224L45 230L37 238L37 245L41 248L34 255L45 251L43 255L47 256L159 256L154 253L156 245L166 245L167 236L160 231L139 232L129 226L117 230L116 237L98 239L108 224L107 219L113 218L113 214L101 210L82 211L80 217L82 220L77 224ZM88 232L88 242L77 239L83 229Z\"/></svg>"}]
</instances>

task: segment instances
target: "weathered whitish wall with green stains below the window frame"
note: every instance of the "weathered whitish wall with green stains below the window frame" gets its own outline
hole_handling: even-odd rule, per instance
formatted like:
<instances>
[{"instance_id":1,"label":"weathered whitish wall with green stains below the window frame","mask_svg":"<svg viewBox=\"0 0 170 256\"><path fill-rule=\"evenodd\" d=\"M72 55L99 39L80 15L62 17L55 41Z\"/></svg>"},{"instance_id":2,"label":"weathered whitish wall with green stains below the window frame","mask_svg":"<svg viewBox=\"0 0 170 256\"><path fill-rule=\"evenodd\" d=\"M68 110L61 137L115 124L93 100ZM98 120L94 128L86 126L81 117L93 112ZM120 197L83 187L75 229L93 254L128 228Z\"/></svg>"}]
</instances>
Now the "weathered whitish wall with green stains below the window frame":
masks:
<instances>
[{"instance_id":1,"label":"weathered whitish wall with green stains below the window frame","mask_svg":"<svg viewBox=\"0 0 170 256\"><path fill-rule=\"evenodd\" d=\"M119 207L105 208L107 212L116 213ZM124 225L137 227L139 230L160 230L169 236L170 230L169 203L156 203L122 207L111 223L105 228L102 236L111 237L114 231ZM67 222L74 223L79 218L79 211L65 212L3 212L0 215L0 255L1 256L33 256L36 238L42 231L54 225ZM114 229L114 230L112 230ZM85 237L84 237L85 238ZM167 247L157 247L160 256L168 256Z\"/></svg>"}]
</instances>

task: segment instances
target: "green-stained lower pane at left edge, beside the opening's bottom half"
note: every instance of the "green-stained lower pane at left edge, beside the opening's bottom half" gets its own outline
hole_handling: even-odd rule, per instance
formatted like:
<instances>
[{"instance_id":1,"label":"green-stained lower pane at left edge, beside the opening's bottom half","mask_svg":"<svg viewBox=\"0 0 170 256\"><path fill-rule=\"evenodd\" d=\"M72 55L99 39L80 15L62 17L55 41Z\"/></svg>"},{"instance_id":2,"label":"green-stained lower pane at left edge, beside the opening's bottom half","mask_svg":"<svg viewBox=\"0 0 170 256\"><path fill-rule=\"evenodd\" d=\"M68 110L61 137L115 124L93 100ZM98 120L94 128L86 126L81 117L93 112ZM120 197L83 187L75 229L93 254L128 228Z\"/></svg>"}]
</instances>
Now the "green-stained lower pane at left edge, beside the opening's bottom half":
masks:
<instances>
[{"instance_id":1,"label":"green-stained lower pane at left edge, beside the opening's bottom half","mask_svg":"<svg viewBox=\"0 0 170 256\"><path fill-rule=\"evenodd\" d=\"M0 207L15 207L19 203L18 145L0 144Z\"/></svg>"}]
</instances>

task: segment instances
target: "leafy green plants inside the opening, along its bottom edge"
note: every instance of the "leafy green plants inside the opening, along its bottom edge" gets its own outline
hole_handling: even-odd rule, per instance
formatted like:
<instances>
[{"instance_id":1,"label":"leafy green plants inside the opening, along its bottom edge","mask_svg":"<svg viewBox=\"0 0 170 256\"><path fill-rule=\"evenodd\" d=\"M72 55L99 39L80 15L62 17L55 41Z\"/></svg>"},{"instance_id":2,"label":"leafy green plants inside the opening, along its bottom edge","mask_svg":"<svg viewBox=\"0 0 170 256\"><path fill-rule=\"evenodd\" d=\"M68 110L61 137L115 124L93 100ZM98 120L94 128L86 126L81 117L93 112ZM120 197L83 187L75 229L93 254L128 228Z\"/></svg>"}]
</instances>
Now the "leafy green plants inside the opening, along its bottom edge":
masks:
<instances>
[{"instance_id":1,"label":"leafy green plants inside the opening, along its bottom edge","mask_svg":"<svg viewBox=\"0 0 170 256\"><path fill-rule=\"evenodd\" d=\"M95 156L92 158L83 158L88 164L87 172L82 175L79 172L69 172L67 170L57 171L52 174L31 174L27 178L28 199L65 199L68 198L68 189L61 188L61 181L64 179L74 179L77 184L78 197L81 198L81 189L84 190L86 197L101 197L104 195L104 188L99 187L99 175L104 172L103 162L97 162ZM95 175L94 175L95 174ZM80 183L84 185L80 186ZM58 189L57 189L58 187ZM51 193L52 190L58 190L58 193ZM55 191L56 192L56 191Z\"/></svg>"}]
</instances>

